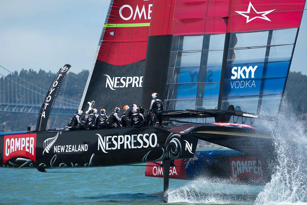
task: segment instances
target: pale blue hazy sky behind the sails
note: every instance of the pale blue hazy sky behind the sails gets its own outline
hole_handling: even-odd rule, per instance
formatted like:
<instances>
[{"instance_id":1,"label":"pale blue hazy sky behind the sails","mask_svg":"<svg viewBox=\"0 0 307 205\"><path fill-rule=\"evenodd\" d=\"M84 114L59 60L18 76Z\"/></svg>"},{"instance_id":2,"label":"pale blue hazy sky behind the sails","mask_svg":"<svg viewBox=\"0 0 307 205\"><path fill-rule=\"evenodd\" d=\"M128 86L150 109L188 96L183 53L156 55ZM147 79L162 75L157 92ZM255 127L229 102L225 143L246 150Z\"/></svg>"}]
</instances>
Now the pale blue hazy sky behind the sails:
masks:
<instances>
[{"instance_id":1,"label":"pale blue hazy sky behind the sails","mask_svg":"<svg viewBox=\"0 0 307 205\"><path fill-rule=\"evenodd\" d=\"M0 65L56 72L64 64L78 73L91 68L109 0L0 0ZM305 9L307 6L305 5ZM291 71L307 74L307 10Z\"/></svg>"}]
</instances>

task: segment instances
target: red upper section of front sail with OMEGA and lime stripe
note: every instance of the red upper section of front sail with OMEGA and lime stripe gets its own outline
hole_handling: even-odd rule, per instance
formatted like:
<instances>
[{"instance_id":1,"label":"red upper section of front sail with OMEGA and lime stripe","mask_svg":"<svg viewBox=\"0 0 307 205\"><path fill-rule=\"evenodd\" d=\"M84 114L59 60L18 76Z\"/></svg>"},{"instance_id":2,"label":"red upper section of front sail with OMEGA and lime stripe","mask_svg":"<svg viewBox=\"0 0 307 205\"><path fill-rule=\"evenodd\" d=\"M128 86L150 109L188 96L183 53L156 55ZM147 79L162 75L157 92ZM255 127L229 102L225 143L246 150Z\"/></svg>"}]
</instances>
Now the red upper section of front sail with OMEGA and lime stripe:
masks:
<instances>
[{"instance_id":1,"label":"red upper section of front sail with OMEGA and lime stripe","mask_svg":"<svg viewBox=\"0 0 307 205\"><path fill-rule=\"evenodd\" d=\"M127 65L145 59L152 0L115 0L97 60Z\"/></svg>"}]
</instances>

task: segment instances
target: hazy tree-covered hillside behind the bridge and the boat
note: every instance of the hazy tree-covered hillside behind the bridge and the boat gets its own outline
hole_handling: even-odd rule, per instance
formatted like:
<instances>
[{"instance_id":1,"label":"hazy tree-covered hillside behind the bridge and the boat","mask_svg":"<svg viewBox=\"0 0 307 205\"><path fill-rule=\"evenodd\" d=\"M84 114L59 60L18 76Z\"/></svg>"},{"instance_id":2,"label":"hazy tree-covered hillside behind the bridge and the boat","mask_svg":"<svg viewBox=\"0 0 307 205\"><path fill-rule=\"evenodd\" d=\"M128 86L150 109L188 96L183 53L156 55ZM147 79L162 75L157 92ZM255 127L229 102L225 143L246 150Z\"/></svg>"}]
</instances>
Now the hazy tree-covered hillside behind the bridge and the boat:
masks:
<instances>
[{"instance_id":1,"label":"hazy tree-covered hillside behind the bridge and the boat","mask_svg":"<svg viewBox=\"0 0 307 205\"><path fill-rule=\"evenodd\" d=\"M83 70L82 72L75 74L69 72L68 81L64 93L65 98L70 98L76 102L80 102L80 99L83 94L84 86L87 81L88 71ZM49 89L50 83L54 79L55 73L46 72L40 70L38 72L34 70L21 70L18 74L15 72L12 74L12 78L16 78L16 75L21 78L26 79L28 82L31 82L43 89ZM9 76L10 77L10 76ZM0 82L3 81L3 78L0 78ZM63 86L58 96L62 96ZM294 111L297 115L305 120L307 116L307 76L301 74L300 72L290 72L287 85L286 85L287 99L293 103ZM60 97L58 97L60 98ZM44 97L41 98L41 103L43 102ZM59 100L59 99L57 99ZM74 105L78 107L77 105ZM74 113L72 113L73 115ZM37 114L27 114L27 113L7 113L0 112L0 129L5 126L7 131L21 131L26 130L27 126L31 126L32 129L35 128L37 121ZM51 115L49 118L48 128L52 128L55 122L55 115ZM59 120L60 119L60 120ZM70 119L70 116L58 116L54 127L64 127Z\"/></svg>"}]
</instances>

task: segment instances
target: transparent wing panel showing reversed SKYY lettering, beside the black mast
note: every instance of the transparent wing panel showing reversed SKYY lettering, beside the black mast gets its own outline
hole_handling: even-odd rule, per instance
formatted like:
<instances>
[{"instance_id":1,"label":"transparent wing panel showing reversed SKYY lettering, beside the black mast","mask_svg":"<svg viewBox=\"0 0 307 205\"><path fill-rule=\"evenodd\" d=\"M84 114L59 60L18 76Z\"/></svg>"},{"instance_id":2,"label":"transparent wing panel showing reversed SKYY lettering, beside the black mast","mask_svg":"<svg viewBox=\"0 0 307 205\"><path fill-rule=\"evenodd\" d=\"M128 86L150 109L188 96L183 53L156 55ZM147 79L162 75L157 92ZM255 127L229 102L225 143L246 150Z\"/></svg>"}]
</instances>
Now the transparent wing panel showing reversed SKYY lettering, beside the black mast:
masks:
<instances>
[{"instance_id":1,"label":"transparent wing panel showing reversed SKYY lettering, beside the black mast","mask_svg":"<svg viewBox=\"0 0 307 205\"><path fill-rule=\"evenodd\" d=\"M217 109L225 34L173 36L165 109Z\"/></svg>"}]
</instances>

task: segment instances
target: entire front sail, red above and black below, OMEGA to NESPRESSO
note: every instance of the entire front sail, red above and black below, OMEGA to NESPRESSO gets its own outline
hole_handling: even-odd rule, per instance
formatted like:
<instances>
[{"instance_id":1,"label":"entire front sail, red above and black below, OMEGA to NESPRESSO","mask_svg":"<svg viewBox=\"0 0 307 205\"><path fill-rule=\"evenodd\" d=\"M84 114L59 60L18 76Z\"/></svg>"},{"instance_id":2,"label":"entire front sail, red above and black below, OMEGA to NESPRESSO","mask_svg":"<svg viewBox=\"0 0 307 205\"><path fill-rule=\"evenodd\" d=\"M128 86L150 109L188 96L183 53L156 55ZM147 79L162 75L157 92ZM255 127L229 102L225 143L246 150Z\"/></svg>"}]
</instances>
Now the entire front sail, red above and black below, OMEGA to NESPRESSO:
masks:
<instances>
[{"instance_id":1,"label":"entire front sail, red above and black below, OMEGA to NESPRESSO","mask_svg":"<svg viewBox=\"0 0 307 205\"><path fill-rule=\"evenodd\" d=\"M152 0L113 0L79 109L140 102Z\"/></svg>"}]
</instances>

